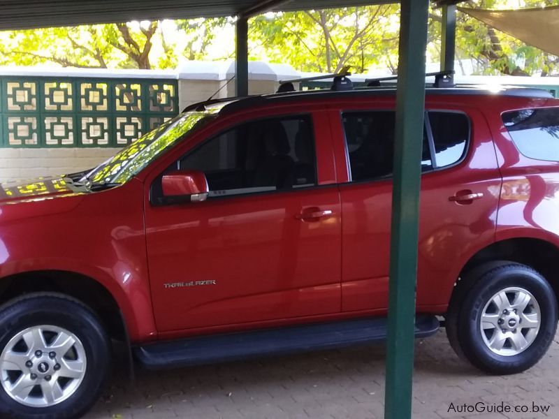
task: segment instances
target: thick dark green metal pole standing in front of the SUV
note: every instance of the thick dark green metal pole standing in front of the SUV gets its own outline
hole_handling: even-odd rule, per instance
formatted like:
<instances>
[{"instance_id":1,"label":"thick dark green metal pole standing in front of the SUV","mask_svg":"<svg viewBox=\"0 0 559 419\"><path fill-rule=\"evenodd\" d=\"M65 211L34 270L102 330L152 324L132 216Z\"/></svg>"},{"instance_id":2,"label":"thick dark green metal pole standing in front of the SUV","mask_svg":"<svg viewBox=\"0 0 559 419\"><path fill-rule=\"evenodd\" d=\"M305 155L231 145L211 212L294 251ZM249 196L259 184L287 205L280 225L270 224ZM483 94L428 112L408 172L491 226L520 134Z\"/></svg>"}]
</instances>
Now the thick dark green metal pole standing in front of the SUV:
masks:
<instances>
[{"instance_id":1,"label":"thick dark green metal pole standing in front of the SUV","mask_svg":"<svg viewBox=\"0 0 559 419\"><path fill-rule=\"evenodd\" d=\"M402 0L384 418L412 417L415 286L429 0Z\"/></svg>"}]
</instances>

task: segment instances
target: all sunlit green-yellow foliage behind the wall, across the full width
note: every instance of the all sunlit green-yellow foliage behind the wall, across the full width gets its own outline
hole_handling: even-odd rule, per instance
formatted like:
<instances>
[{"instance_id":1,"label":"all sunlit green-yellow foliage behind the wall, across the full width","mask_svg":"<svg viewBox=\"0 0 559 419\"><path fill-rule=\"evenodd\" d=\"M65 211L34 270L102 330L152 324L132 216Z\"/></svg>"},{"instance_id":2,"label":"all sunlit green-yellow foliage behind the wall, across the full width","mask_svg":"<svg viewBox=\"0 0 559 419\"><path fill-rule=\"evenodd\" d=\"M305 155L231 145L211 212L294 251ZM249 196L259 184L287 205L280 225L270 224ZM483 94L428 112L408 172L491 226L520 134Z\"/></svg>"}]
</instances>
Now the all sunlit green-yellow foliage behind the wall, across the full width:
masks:
<instances>
[{"instance_id":1,"label":"all sunlit green-yellow foliage behind the wall, across the full width","mask_svg":"<svg viewBox=\"0 0 559 419\"><path fill-rule=\"evenodd\" d=\"M474 8L555 6L559 0L471 0ZM174 68L181 59L227 59L232 18L131 22L0 32L0 64L98 68ZM300 71L354 73L398 66L399 6L266 13L249 23L251 59ZM559 58L458 13L456 58L477 74L559 73ZM225 34L225 36L224 36ZM430 10L428 61L440 61L441 10ZM224 42L224 39L226 41ZM216 52L217 51L217 52ZM460 71L460 68L457 68Z\"/></svg>"}]
</instances>

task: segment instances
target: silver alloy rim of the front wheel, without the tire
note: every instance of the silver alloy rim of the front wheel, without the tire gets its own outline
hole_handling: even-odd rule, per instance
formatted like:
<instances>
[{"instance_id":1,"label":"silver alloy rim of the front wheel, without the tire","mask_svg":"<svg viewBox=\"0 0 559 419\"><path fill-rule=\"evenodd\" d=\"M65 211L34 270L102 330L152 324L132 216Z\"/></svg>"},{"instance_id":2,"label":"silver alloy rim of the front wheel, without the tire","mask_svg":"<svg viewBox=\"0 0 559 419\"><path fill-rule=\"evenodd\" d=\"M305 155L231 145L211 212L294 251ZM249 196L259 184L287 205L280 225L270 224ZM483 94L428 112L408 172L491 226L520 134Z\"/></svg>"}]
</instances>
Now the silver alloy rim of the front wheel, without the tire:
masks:
<instances>
[{"instance_id":1,"label":"silver alloy rim of the front wheel, without the tire","mask_svg":"<svg viewBox=\"0 0 559 419\"><path fill-rule=\"evenodd\" d=\"M31 407L64 402L80 387L86 368L80 339L51 325L17 333L0 356L3 389L16 402Z\"/></svg>"}]
</instances>

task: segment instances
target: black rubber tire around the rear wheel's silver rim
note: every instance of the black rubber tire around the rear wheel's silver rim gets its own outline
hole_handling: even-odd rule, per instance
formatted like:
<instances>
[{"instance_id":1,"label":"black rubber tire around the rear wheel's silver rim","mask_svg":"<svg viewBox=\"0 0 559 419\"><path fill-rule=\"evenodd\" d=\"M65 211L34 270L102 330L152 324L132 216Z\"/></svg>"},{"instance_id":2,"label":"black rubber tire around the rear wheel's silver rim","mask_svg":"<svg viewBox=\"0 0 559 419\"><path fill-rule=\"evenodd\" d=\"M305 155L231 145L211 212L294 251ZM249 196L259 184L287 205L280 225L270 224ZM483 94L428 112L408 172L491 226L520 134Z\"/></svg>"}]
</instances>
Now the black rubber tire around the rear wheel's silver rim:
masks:
<instances>
[{"instance_id":1,"label":"black rubber tire around the rear wheel's silver rim","mask_svg":"<svg viewBox=\"0 0 559 419\"><path fill-rule=\"evenodd\" d=\"M449 335L451 345L453 347L458 346L457 353L463 355L474 367L490 374L516 374L532 367L546 353L556 333L558 304L553 288L541 274L531 267L519 263L504 261L492 263L491 265L485 265L481 270L474 270L472 273L477 278L468 278L468 280L474 281L471 283L473 285L465 293L461 304L457 304L458 308L455 307L451 316L449 316L451 323L447 325L447 328L449 328L447 335ZM486 339L484 339L482 333L485 332L481 330L480 323L481 315L484 313L486 306L488 310L496 309L496 306L491 306L491 303L489 303L491 298L507 288L528 291L532 295L537 307L539 307L539 330L535 333L533 341L521 350L514 348L512 342L514 339L505 339L502 348L504 348L504 351L508 351L507 345L509 345L510 350L509 353L503 355L502 353L496 353L495 348L491 349L486 344L486 340L491 340L489 339L491 334L498 331L489 329L487 333L490 336L485 335ZM511 297L513 296L514 292ZM530 307L529 304L526 310L530 311ZM528 311L526 313L529 314ZM495 313L497 313L496 310ZM510 314L510 310L507 310L507 313ZM507 317L500 311L498 311L498 316L499 321L503 322L502 319L505 319L504 323L508 322ZM514 323L513 321L512 324L514 325ZM514 336L511 333L516 334L517 332L527 336L525 333L529 332L528 329L521 328L520 323L517 323L516 326L517 328L509 330L504 325L502 330L506 330L507 336L511 337ZM500 328L501 326L499 326L499 330L501 330ZM497 351L503 350L498 349Z\"/></svg>"}]
</instances>

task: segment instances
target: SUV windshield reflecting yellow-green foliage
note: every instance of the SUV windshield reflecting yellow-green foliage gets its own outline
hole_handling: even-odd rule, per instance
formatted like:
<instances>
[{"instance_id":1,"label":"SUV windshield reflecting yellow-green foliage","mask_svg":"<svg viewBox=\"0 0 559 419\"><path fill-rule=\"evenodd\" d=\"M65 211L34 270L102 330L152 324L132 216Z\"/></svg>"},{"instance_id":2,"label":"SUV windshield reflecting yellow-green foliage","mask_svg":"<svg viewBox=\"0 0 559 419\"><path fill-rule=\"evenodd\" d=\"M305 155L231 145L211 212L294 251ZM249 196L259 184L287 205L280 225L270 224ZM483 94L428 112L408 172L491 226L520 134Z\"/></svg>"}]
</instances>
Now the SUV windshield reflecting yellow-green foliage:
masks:
<instances>
[{"instance_id":1,"label":"SUV windshield reflecting yellow-green foliage","mask_svg":"<svg viewBox=\"0 0 559 419\"><path fill-rule=\"evenodd\" d=\"M170 119L124 147L108 161L87 173L81 181L92 185L123 184L186 135L215 119L216 114L217 110L186 112Z\"/></svg>"}]
</instances>

